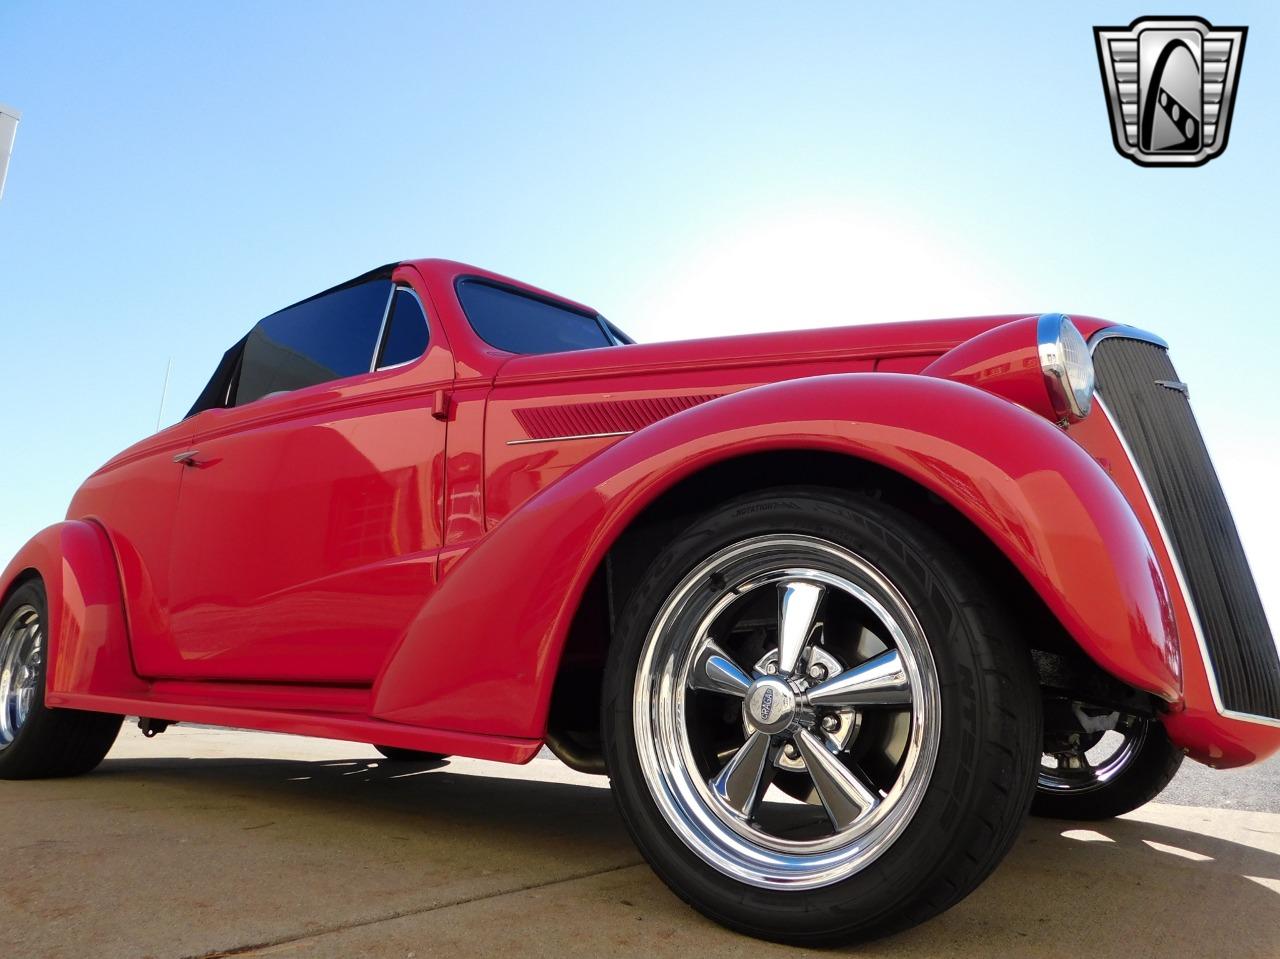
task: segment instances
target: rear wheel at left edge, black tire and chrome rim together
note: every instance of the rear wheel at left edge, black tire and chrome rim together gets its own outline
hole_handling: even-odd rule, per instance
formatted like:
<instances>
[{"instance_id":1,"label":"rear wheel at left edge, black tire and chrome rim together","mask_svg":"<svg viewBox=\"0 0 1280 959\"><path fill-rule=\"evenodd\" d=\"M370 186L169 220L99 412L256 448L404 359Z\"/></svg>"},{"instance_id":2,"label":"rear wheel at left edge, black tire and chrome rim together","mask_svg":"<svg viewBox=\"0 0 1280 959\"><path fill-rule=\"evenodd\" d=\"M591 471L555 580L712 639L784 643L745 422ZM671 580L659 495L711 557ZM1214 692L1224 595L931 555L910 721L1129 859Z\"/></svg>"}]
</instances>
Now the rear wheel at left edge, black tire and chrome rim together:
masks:
<instances>
[{"instance_id":1,"label":"rear wheel at left edge, black tire and chrome rim together","mask_svg":"<svg viewBox=\"0 0 1280 959\"><path fill-rule=\"evenodd\" d=\"M29 581L0 607L0 778L78 776L102 762L123 717L45 705L45 589Z\"/></svg>"}]
</instances>

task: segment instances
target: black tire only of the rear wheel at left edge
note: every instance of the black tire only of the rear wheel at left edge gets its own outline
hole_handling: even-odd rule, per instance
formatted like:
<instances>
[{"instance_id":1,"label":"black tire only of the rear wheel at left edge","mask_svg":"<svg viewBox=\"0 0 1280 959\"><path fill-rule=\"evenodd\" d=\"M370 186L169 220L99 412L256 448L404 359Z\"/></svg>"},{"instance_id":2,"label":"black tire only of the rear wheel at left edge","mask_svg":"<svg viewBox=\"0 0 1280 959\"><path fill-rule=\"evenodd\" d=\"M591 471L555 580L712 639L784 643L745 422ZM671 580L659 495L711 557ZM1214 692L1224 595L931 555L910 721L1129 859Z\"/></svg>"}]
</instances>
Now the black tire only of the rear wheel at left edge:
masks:
<instances>
[{"instance_id":1,"label":"black tire only of the rear wheel at left edge","mask_svg":"<svg viewBox=\"0 0 1280 959\"><path fill-rule=\"evenodd\" d=\"M13 740L8 745L0 745L0 778L79 776L102 762L124 717L79 709L50 709L45 705L49 607L45 588L38 580L28 580L18 586L0 608L0 640L9 624L24 609L35 609L38 616L40 662L26 720L18 726ZM0 708L6 708L4 702L0 702Z\"/></svg>"}]
</instances>

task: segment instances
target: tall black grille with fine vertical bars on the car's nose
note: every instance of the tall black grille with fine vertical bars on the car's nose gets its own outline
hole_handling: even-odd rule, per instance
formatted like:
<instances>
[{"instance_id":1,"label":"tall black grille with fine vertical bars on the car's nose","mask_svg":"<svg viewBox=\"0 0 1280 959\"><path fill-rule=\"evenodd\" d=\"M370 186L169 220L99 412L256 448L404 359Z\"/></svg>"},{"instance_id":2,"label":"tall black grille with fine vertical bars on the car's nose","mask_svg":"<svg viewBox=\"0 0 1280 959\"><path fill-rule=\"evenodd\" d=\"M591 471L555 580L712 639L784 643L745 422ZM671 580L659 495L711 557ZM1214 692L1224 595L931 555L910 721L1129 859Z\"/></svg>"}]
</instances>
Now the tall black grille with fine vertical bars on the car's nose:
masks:
<instances>
[{"instance_id":1,"label":"tall black grille with fine vertical bars on the car's nose","mask_svg":"<svg viewBox=\"0 0 1280 959\"><path fill-rule=\"evenodd\" d=\"M1280 720L1280 653L1217 472L1169 353L1107 338L1098 394L1128 443L1181 567L1222 707Z\"/></svg>"}]
</instances>

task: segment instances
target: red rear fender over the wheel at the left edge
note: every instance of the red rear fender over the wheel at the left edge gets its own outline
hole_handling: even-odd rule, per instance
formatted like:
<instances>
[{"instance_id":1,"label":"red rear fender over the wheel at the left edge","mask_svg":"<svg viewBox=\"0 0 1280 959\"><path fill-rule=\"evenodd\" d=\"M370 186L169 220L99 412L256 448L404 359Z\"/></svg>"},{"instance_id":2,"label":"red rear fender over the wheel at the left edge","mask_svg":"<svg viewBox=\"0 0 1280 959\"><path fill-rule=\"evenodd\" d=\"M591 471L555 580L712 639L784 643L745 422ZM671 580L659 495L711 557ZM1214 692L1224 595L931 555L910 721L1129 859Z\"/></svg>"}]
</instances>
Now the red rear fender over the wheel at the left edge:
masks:
<instances>
[{"instance_id":1,"label":"red rear fender over the wheel at the left edge","mask_svg":"<svg viewBox=\"0 0 1280 959\"><path fill-rule=\"evenodd\" d=\"M59 705L63 693L143 691L129 658L115 554L102 529L69 520L37 533L4 571L4 594L32 572L49 598L46 702Z\"/></svg>"}]
</instances>

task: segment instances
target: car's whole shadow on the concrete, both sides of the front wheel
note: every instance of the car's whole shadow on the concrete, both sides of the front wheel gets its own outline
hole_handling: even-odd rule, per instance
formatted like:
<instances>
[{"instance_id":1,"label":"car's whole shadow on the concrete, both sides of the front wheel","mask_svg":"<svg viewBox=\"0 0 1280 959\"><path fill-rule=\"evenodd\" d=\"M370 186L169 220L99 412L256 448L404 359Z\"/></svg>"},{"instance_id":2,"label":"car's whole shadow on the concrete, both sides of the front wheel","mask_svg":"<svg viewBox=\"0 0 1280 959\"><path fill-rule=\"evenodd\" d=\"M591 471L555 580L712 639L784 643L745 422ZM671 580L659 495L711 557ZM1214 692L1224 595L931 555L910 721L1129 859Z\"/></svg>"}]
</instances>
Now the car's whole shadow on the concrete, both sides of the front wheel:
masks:
<instances>
[{"instance_id":1,"label":"car's whole shadow on the concrete, both sides of the front wheel","mask_svg":"<svg viewBox=\"0 0 1280 959\"><path fill-rule=\"evenodd\" d=\"M116 798L138 793L140 784L155 798L163 786L168 802L219 808L227 828L278 828L301 819L300 828L320 830L353 853L383 834L412 837L399 862L410 868L434 855L431 837L442 834L454 842L463 836L518 850L525 862L640 862L603 778L600 786L568 785L463 775L448 762L364 757L148 758L109 761L83 785L90 782ZM1006 862L959 908L849 951L1137 959L1176 949L1204 955L1221 951L1229 930L1234 959L1271 958L1280 955L1276 886L1280 855L1242 842L1135 819L1032 819ZM655 895L650 904L659 913L652 918L690 935L703 923L675 896Z\"/></svg>"}]
</instances>

